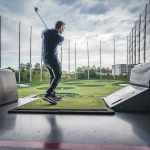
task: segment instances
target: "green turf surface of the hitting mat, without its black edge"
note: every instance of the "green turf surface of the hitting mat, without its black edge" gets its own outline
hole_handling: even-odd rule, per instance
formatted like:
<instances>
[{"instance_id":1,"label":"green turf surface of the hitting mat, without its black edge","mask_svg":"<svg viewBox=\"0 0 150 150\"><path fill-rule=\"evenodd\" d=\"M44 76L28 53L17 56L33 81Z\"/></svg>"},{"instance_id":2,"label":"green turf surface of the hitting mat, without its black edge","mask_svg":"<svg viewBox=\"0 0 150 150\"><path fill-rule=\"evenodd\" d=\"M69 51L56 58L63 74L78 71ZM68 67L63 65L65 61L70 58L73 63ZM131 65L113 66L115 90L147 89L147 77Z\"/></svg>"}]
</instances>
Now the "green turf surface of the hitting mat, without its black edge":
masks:
<instances>
[{"instance_id":1,"label":"green turf surface of the hitting mat, without its black edge","mask_svg":"<svg viewBox=\"0 0 150 150\"><path fill-rule=\"evenodd\" d=\"M36 109L36 110L107 110L104 101L100 97L63 97L57 101L57 105L51 105L49 102L39 98L28 104L22 105L17 109Z\"/></svg>"}]
</instances>

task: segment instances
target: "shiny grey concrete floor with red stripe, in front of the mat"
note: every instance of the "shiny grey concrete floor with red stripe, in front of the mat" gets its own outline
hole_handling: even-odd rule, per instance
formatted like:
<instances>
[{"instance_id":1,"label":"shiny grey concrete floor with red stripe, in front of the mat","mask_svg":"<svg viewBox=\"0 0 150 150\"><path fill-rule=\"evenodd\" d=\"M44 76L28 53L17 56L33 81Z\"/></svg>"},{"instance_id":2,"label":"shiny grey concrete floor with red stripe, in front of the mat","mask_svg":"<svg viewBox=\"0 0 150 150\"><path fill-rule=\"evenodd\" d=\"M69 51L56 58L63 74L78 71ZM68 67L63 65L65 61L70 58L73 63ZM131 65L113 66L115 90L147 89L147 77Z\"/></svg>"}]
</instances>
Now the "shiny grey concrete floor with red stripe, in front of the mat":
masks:
<instances>
[{"instance_id":1,"label":"shiny grey concrete floor with red stripe, in front of the mat","mask_svg":"<svg viewBox=\"0 0 150 150\"><path fill-rule=\"evenodd\" d=\"M150 114L10 114L0 107L0 149L150 150Z\"/></svg>"}]
</instances>

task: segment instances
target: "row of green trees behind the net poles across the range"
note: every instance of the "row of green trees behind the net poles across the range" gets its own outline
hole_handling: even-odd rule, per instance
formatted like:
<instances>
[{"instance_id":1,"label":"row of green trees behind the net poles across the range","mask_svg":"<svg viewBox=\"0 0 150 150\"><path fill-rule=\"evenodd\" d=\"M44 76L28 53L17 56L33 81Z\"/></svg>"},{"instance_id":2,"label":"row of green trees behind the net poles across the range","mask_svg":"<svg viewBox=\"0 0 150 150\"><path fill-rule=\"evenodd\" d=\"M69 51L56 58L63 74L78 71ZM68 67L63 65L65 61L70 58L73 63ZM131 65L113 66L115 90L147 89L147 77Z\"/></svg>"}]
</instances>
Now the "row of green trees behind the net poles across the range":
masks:
<instances>
[{"instance_id":1,"label":"row of green trees behind the net poles across the range","mask_svg":"<svg viewBox=\"0 0 150 150\"><path fill-rule=\"evenodd\" d=\"M33 82L39 82L41 77L41 65L40 63L36 63L34 66L31 66L32 68L32 81ZM14 68L8 67L8 69L11 69L13 72L15 72L16 80L18 82L19 78L19 70L15 70ZM87 66L78 67L75 72L70 73L70 78L74 79L75 74L77 79L87 79L88 78L88 70L89 70L89 77L90 79L97 79L100 78L100 72L102 72L102 76L109 77L111 76L112 70L108 68L102 68L100 70L100 67L96 67L95 65L90 66L89 68ZM42 65L42 78L43 81L49 80L49 73L46 69L45 65ZM68 79L68 73L67 71L63 70L62 79ZM20 64L20 80L21 82L29 82L30 81L30 63L21 63Z\"/></svg>"}]
</instances>

